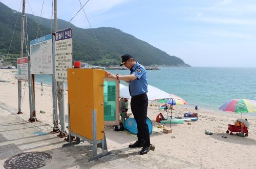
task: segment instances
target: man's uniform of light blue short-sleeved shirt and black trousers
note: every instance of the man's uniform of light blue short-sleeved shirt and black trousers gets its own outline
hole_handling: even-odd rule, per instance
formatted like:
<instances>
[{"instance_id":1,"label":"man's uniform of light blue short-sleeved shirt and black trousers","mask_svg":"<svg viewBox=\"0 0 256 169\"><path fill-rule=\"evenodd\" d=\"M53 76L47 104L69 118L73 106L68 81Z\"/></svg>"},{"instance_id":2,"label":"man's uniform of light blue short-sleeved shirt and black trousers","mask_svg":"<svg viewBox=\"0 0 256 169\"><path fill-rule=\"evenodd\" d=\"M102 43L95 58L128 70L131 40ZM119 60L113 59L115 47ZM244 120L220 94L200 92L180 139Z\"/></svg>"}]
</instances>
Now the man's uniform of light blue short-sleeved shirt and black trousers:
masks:
<instances>
[{"instance_id":1,"label":"man's uniform of light blue short-sleeved shirt and black trousers","mask_svg":"<svg viewBox=\"0 0 256 169\"><path fill-rule=\"evenodd\" d=\"M131 109L137 122L138 140L144 143L144 146L150 146L150 133L146 124L147 118L147 73L144 66L138 62L132 67L131 74L137 76L135 80L129 83L129 92L132 97Z\"/></svg>"}]
</instances>

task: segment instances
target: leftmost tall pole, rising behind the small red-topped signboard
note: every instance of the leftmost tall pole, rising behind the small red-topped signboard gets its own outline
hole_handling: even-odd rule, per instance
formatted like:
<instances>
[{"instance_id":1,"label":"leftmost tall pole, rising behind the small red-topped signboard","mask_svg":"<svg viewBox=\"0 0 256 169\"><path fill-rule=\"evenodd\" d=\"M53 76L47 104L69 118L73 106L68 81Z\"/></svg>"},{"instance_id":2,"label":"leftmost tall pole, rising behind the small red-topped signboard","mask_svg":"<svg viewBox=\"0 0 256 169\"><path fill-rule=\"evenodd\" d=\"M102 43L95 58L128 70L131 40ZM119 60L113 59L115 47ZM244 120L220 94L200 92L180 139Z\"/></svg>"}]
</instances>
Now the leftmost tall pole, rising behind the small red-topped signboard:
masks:
<instances>
[{"instance_id":1,"label":"leftmost tall pole, rising behind the small red-topped signboard","mask_svg":"<svg viewBox=\"0 0 256 169\"><path fill-rule=\"evenodd\" d=\"M25 25L25 0L23 0L22 8L22 32L20 32L20 58L23 58L23 43L24 43L24 25ZM18 113L23 114L22 112L22 81L18 80Z\"/></svg>"}]
</instances>

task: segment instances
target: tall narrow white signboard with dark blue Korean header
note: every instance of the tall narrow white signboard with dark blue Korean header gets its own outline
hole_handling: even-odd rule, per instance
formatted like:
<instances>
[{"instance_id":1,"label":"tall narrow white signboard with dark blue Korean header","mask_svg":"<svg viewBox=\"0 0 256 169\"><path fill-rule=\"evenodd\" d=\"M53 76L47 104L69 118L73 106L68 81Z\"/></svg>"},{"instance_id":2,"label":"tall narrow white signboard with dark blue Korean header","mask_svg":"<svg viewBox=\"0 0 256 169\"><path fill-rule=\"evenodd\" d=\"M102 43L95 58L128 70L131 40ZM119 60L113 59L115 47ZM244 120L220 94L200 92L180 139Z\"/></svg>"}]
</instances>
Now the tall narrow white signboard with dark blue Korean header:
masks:
<instances>
[{"instance_id":1,"label":"tall narrow white signboard with dark blue Korean header","mask_svg":"<svg viewBox=\"0 0 256 169\"><path fill-rule=\"evenodd\" d=\"M67 82L67 69L72 68L72 28L55 34L55 79Z\"/></svg>"}]
</instances>

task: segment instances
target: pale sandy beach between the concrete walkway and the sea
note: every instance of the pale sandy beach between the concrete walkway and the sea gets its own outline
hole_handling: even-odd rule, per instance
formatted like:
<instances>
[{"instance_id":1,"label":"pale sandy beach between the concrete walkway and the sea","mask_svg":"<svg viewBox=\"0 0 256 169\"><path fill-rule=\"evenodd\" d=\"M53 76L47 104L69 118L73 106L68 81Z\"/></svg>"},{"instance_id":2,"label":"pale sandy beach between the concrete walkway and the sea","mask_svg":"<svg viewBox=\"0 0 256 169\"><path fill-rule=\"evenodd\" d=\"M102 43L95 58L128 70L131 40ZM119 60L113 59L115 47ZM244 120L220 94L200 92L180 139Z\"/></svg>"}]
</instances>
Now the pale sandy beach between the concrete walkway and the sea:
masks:
<instances>
[{"instance_id":1,"label":"pale sandy beach between the concrete walkway and the sea","mask_svg":"<svg viewBox=\"0 0 256 169\"><path fill-rule=\"evenodd\" d=\"M6 80L0 82L0 106L18 107L15 72L15 69L0 69L0 80ZM24 84L22 82L22 112L24 114L17 116L27 121L30 117L28 83L26 83L26 86ZM50 86L44 86L41 92L41 86L35 85L36 118L52 126L51 92L52 88ZM65 96L65 102L67 103L67 93ZM68 124L67 106L65 107L66 124ZM41 110L45 111L45 114L41 114ZM165 155L168 155L200 165L203 168L256 168L256 116L243 115L243 118L247 118L250 123L249 136L239 137L236 134L227 134L226 130L228 124L234 124L234 121L241 117L240 114L202 108L196 111L189 106L174 106L173 116L183 117L184 113L188 111L197 112L199 120L190 122L191 125L188 125L187 122L172 124L173 132L169 134L154 132L151 135L151 143L156 146L156 149L150 151L149 154L159 154L159 158L151 161L152 163L161 165L161 162L166 160L164 159ZM130 109L129 112L131 113ZM151 119L153 126L159 124L156 123L156 116L159 112L162 112L166 117L166 112L160 110L158 106L148 106L148 118ZM165 126L168 128L169 124ZM49 127L41 126L40 128L46 132L51 131ZM213 134L206 135L205 130L209 130ZM136 136L132 134L126 134L123 137L120 132L113 132L112 127L106 127L105 131L110 151L126 148L136 139ZM222 137L223 135L227 138ZM116 139L109 139L109 137L115 137ZM147 155L144 155L144 158L147 158ZM175 166L172 167L175 168ZM151 168L151 165L148 165L148 168Z\"/></svg>"}]
</instances>

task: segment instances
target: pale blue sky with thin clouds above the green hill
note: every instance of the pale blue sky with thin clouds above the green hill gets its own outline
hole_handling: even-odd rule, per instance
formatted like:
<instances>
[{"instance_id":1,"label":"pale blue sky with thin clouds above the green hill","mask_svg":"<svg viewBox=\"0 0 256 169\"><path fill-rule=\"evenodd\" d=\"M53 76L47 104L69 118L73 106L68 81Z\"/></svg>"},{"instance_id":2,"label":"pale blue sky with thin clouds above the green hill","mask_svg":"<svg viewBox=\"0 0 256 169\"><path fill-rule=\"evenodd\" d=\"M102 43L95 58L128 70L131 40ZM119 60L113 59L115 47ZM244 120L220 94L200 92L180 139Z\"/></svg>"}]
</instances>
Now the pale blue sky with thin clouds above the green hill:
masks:
<instances>
[{"instance_id":1,"label":"pale blue sky with thin clouds above the green hill","mask_svg":"<svg viewBox=\"0 0 256 169\"><path fill-rule=\"evenodd\" d=\"M19 10L22 1L0 2ZM27 1L32 13L28 2L40 16L43 0ZM51 18L51 9L45 0L42 17ZM69 21L79 9L79 0L58 0L58 18ZM116 27L191 66L255 67L256 1L90 0L84 10L92 27ZM89 28L82 11L71 23Z\"/></svg>"}]
</instances>

